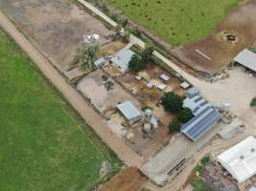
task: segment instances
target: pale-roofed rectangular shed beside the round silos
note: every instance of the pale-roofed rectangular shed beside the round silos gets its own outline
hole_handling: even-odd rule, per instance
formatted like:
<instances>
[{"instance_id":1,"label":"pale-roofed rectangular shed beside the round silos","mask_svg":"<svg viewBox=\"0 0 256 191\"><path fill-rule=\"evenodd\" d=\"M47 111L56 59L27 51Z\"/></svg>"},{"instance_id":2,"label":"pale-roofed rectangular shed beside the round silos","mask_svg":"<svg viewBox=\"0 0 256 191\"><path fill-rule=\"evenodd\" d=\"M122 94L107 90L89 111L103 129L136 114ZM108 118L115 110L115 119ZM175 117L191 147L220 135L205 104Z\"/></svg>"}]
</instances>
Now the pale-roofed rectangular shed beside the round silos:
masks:
<instances>
[{"instance_id":1,"label":"pale-roofed rectangular shed beside the round silos","mask_svg":"<svg viewBox=\"0 0 256 191\"><path fill-rule=\"evenodd\" d=\"M116 107L126 117L129 124L140 120L142 117L140 111L130 101L120 103Z\"/></svg>"}]
</instances>

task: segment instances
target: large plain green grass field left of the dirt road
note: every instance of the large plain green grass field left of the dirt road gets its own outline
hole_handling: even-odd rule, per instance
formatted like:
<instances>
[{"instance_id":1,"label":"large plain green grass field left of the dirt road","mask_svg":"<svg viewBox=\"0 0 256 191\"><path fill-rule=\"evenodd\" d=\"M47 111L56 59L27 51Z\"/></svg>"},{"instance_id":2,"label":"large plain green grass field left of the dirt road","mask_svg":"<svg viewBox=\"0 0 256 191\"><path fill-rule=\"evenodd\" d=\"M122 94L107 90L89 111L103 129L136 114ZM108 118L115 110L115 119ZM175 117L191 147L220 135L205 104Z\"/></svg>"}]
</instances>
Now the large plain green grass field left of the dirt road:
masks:
<instances>
[{"instance_id":1,"label":"large plain green grass field left of the dirt road","mask_svg":"<svg viewBox=\"0 0 256 191\"><path fill-rule=\"evenodd\" d=\"M0 29L0 190L91 190L122 163ZM106 178L106 179L107 179Z\"/></svg>"}]
</instances>

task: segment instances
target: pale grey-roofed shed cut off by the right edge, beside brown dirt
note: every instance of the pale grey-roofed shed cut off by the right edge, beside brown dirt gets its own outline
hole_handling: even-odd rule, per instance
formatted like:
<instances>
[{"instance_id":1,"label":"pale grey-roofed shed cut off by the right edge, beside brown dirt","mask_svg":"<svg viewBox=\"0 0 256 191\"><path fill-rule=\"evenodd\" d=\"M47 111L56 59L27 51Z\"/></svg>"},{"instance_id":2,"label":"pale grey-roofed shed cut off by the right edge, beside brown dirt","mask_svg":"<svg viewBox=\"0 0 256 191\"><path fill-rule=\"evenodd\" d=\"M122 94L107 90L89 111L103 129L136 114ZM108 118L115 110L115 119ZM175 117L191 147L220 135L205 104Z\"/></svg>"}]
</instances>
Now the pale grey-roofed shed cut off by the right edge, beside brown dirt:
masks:
<instances>
[{"instance_id":1,"label":"pale grey-roofed shed cut off by the right edge, beside brown dirt","mask_svg":"<svg viewBox=\"0 0 256 191\"><path fill-rule=\"evenodd\" d=\"M235 58L234 61L243 65L247 69L256 72L256 53L244 49L241 53L239 53Z\"/></svg>"}]
</instances>

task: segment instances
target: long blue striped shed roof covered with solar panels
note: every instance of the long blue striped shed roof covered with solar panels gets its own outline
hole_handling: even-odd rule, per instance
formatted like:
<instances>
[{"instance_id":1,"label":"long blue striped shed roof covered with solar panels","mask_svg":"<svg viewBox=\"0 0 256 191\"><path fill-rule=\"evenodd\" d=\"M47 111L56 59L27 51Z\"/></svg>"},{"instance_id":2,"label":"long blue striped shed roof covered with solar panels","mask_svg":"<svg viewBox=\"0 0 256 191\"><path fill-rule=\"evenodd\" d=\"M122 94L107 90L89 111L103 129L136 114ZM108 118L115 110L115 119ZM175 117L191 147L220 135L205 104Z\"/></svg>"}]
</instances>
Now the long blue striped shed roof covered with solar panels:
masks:
<instances>
[{"instance_id":1,"label":"long blue striped shed roof covered with solar panels","mask_svg":"<svg viewBox=\"0 0 256 191\"><path fill-rule=\"evenodd\" d=\"M213 107L206 107L196 117L185 123L181 132L193 141L198 140L202 135L209 131L219 120L221 114Z\"/></svg>"}]
</instances>

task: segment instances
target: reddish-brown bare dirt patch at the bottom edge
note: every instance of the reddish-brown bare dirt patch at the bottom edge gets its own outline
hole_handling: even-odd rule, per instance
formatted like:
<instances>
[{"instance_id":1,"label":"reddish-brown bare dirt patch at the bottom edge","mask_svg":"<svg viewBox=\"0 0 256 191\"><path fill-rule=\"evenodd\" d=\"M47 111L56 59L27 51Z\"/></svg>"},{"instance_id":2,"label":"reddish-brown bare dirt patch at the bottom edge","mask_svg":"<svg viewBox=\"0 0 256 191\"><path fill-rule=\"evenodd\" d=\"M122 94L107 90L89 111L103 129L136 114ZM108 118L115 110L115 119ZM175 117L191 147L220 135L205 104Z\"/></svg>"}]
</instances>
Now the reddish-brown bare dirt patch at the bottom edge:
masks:
<instances>
[{"instance_id":1,"label":"reddish-brown bare dirt patch at the bottom edge","mask_svg":"<svg viewBox=\"0 0 256 191\"><path fill-rule=\"evenodd\" d=\"M136 168L124 169L112 180L101 185L98 191L137 191L147 178Z\"/></svg>"}]
</instances>

